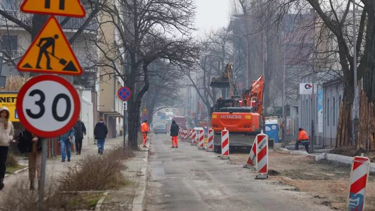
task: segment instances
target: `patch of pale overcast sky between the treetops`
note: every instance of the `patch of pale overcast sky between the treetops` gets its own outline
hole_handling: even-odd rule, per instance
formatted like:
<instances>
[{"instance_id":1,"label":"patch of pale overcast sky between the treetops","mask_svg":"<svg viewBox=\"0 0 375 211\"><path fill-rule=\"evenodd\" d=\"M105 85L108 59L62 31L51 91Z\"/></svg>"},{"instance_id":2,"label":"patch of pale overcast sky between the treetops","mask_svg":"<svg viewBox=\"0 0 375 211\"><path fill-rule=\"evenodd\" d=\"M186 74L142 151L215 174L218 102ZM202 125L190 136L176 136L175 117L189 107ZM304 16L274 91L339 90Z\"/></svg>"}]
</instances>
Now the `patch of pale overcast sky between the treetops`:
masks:
<instances>
[{"instance_id":1,"label":"patch of pale overcast sky between the treetops","mask_svg":"<svg viewBox=\"0 0 375 211\"><path fill-rule=\"evenodd\" d=\"M202 36L211 29L226 27L229 23L229 0L195 0L196 17L195 25L199 28L194 35Z\"/></svg>"}]
</instances>

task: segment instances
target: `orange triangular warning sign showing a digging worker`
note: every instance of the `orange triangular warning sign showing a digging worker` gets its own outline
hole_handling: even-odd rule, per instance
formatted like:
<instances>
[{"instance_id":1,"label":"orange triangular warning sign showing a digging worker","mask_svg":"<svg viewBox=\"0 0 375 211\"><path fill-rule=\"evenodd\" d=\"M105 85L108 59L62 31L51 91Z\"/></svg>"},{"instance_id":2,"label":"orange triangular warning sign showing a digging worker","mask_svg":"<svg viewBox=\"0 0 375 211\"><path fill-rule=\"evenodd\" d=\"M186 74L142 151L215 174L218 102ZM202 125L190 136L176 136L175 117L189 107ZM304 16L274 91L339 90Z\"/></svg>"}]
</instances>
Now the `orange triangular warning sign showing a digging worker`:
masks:
<instances>
[{"instance_id":1,"label":"orange triangular warning sign showing a digging worker","mask_svg":"<svg viewBox=\"0 0 375 211\"><path fill-rule=\"evenodd\" d=\"M82 68L55 17L50 17L18 62L17 69L65 75L81 75Z\"/></svg>"}]
</instances>

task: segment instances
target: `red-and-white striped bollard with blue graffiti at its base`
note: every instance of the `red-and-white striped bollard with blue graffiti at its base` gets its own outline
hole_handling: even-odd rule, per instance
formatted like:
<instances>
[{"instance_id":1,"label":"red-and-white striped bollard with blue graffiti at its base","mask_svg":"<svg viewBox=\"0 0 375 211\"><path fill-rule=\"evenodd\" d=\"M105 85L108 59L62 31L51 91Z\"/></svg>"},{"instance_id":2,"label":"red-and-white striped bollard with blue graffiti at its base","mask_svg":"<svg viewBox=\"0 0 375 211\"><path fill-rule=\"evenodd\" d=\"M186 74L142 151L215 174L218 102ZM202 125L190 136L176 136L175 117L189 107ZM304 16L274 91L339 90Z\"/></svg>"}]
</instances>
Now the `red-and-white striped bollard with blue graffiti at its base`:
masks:
<instances>
[{"instance_id":1,"label":"red-and-white striped bollard with blue graffiti at its base","mask_svg":"<svg viewBox=\"0 0 375 211\"><path fill-rule=\"evenodd\" d=\"M350 190L347 211L365 209L366 184L369 178L370 159L356 156L350 173Z\"/></svg>"}]
</instances>

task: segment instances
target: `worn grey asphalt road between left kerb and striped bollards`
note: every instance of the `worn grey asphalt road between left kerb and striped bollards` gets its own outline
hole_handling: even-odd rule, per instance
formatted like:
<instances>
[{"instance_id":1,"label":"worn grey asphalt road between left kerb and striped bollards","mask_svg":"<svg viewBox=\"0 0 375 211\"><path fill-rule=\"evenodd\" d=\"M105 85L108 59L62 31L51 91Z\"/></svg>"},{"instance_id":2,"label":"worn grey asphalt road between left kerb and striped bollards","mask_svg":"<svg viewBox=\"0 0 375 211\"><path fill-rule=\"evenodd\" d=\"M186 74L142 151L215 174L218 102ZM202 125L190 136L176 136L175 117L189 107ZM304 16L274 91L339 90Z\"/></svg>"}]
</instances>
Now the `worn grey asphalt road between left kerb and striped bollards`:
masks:
<instances>
[{"instance_id":1,"label":"worn grey asphalt road between left kerb and striped bollards","mask_svg":"<svg viewBox=\"0 0 375 211\"><path fill-rule=\"evenodd\" d=\"M254 172L218 154L187 142L170 146L167 135L151 140L145 211L332 211L293 187L255 180Z\"/></svg>"}]
</instances>

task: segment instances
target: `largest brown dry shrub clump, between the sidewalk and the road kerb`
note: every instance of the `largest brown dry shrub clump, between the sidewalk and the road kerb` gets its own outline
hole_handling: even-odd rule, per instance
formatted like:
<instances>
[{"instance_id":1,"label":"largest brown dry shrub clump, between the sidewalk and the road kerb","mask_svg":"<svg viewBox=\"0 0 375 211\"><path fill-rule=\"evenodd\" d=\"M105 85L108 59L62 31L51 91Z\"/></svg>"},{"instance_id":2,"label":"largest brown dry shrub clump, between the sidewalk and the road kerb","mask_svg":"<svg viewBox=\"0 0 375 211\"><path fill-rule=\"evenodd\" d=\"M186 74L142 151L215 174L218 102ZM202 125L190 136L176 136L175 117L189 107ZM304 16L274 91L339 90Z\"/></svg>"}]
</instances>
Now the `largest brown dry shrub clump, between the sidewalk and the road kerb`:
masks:
<instances>
[{"instance_id":1,"label":"largest brown dry shrub clump, between the sidewalk and the road kerb","mask_svg":"<svg viewBox=\"0 0 375 211\"><path fill-rule=\"evenodd\" d=\"M124 161L132 157L133 151L123 151L122 147L109 149L102 156L88 156L62 173L60 191L108 190L121 185L124 178L121 170Z\"/></svg>"}]
</instances>

